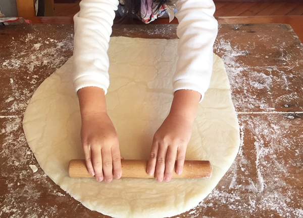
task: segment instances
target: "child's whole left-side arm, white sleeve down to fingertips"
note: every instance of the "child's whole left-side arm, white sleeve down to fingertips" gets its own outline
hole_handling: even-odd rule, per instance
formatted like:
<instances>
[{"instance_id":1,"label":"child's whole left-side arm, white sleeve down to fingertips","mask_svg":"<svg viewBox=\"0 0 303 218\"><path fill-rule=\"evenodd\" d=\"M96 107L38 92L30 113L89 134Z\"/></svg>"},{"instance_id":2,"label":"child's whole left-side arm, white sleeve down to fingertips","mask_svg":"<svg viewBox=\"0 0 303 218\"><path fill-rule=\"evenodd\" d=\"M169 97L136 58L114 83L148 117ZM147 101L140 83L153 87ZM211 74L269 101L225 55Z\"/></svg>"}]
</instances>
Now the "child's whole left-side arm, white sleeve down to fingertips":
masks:
<instances>
[{"instance_id":1,"label":"child's whole left-side arm, white sleeve down to fingertips","mask_svg":"<svg viewBox=\"0 0 303 218\"><path fill-rule=\"evenodd\" d=\"M98 181L122 174L119 142L106 110L109 87L107 50L118 0L82 0L74 16L74 86L81 110L86 167Z\"/></svg>"}]
</instances>

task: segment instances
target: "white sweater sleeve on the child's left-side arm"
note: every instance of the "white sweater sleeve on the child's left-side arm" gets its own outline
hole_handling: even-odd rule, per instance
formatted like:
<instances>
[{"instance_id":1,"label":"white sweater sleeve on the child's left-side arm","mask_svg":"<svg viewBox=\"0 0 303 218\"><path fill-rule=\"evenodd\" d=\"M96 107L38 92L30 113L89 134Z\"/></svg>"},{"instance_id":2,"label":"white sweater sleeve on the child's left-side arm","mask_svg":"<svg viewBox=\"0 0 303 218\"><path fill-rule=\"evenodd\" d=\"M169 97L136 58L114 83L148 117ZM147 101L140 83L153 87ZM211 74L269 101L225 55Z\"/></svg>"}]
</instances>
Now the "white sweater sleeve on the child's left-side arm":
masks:
<instances>
[{"instance_id":1,"label":"white sweater sleeve on the child's left-side arm","mask_svg":"<svg viewBox=\"0 0 303 218\"><path fill-rule=\"evenodd\" d=\"M118 0L82 0L74 16L73 73L76 91L99 87L105 93L110 85L107 54Z\"/></svg>"}]
</instances>

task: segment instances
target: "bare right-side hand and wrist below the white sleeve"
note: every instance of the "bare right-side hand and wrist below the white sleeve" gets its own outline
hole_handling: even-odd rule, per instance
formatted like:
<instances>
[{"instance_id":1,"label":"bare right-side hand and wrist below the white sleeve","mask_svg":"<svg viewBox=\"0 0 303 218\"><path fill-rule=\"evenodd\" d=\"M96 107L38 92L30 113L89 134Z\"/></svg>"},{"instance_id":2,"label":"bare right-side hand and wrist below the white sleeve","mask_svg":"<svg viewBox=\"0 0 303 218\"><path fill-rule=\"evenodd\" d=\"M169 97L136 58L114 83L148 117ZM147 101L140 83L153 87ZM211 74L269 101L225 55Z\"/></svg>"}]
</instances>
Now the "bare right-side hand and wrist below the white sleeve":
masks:
<instances>
[{"instance_id":1,"label":"bare right-side hand and wrist below the white sleeve","mask_svg":"<svg viewBox=\"0 0 303 218\"><path fill-rule=\"evenodd\" d=\"M191 90L178 90L174 94L170 113L154 135L147 163L147 173L155 174L159 182L171 180L176 158L176 173L182 173L200 98L200 93Z\"/></svg>"}]
</instances>

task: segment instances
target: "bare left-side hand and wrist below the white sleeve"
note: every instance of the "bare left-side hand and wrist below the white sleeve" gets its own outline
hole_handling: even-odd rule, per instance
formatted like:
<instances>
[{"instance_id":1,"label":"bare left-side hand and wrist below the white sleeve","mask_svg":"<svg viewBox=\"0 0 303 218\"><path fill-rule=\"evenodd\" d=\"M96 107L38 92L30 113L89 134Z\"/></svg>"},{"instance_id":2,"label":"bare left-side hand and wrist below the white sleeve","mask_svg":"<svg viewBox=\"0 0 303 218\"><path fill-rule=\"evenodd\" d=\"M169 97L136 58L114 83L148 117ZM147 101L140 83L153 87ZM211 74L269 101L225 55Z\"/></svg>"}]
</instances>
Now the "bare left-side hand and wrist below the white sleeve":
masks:
<instances>
[{"instance_id":1,"label":"bare left-side hand and wrist below the white sleeve","mask_svg":"<svg viewBox=\"0 0 303 218\"><path fill-rule=\"evenodd\" d=\"M86 87L78 91L81 111L81 141L86 167L97 181L111 182L122 176L116 129L106 111L104 91Z\"/></svg>"}]
</instances>

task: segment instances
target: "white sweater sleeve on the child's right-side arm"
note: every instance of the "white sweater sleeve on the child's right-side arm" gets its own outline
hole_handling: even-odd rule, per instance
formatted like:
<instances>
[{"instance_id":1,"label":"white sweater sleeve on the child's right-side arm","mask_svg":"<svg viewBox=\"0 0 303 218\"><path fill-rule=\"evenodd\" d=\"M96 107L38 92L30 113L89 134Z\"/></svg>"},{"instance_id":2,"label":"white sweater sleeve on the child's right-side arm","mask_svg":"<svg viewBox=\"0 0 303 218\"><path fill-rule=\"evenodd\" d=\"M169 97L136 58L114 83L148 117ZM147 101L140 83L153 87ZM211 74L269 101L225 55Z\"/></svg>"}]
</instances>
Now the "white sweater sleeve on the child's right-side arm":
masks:
<instances>
[{"instance_id":1,"label":"white sweater sleeve on the child's right-side arm","mask_svg":"<svg viewBox=\"0 0 303 218\"><path fill-rule=\"evenodd\" d=\"M213 45L218 34L215 4L213 0L179 0L177 10L179 41L174 91L194 90L202 100L213 71Z\"/></svg>"}]
</instances>

